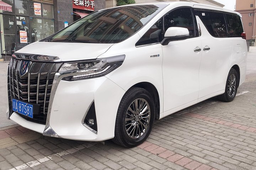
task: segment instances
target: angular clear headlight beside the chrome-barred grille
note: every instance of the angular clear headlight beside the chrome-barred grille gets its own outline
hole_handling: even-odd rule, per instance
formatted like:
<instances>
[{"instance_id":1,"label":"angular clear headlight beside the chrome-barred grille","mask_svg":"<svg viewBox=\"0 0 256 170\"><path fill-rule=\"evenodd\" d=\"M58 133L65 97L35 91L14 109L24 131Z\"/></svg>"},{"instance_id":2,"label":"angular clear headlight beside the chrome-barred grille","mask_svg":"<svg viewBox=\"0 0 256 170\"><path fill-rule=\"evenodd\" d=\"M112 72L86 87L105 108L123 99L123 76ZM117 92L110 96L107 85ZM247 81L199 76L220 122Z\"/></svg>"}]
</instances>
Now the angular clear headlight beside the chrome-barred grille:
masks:
<instances>
[{"instance_id":1,"label":"angular clear headlight beside the chrome-barred grille","mask_svg":"<svg viewBox=\"0 0 256 170\"><path fill-rule=\"evenodd\" d=\"M122 65L125 55L64 63L59 73L62 80L75 81L104 76Z\"/></svg>"}]
</instances>

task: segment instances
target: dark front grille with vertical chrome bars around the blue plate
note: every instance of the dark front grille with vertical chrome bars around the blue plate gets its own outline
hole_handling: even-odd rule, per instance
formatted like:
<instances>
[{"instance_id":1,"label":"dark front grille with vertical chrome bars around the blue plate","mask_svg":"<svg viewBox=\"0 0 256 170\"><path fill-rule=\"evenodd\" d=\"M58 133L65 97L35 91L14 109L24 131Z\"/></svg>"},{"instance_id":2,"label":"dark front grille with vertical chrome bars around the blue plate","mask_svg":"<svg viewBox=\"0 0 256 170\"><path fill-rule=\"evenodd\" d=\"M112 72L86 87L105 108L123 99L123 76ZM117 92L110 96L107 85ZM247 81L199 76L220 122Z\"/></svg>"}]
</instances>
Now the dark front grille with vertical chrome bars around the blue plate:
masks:
<instances>
[{"instance_id":1,"label":"dark front grille with vertical chrome bars around the blue plate","mask_svg":"<svg viewBox=\"0 0 256 170\"><path fill-rule=\"evenodd\" d=\"M25 103L39 104L39 113L33 111L33 118L19 115L28 121L46 124L53 79L61 64L12 58L7 73L10 111L12 111L12 98Z\"/></svg>"}]
</instances>

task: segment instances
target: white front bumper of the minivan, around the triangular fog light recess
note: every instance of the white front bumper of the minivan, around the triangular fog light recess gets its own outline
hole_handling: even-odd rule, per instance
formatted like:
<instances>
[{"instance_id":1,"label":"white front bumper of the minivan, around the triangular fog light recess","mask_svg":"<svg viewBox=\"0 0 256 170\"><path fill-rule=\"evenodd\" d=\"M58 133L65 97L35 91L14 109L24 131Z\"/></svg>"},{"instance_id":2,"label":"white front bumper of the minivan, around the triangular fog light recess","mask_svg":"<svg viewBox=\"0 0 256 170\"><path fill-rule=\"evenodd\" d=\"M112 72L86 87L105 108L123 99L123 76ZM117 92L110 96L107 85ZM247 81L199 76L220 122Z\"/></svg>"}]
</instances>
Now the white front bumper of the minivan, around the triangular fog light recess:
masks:
<instances>
[{"instance_id":1,"label":"white front bumper of the minivan, around the triangular fog light recess","mask_svg":"<svg viewBox=\"0 0 256 170\"><path fill-rule=\"evenodd\" d=\"M10 119L45 136L103 141L114 137L116 114L124 93L121 87L106 77L79 81L60 80L52 89L46 125L27 121L15 112L11 114ZM97 134L83 124L93 101Z\"/></svg>"}]
</instances>

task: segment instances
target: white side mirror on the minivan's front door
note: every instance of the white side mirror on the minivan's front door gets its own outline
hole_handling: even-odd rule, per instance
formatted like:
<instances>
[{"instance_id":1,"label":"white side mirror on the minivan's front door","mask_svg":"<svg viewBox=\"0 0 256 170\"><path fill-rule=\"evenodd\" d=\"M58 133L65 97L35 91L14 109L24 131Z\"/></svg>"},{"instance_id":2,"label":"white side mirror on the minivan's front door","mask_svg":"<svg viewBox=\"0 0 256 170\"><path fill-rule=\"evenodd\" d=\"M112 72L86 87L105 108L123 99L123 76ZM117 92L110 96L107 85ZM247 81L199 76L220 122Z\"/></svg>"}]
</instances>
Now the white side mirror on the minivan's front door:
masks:
<instances>
[{"instance_id":1,"label":"white side mirror on the minivan's front door","mask_svg":"<svg viewBox=\"0 0 256 170\"><path fill-rule=\"evenodd\" d=\"M162 45L169 44L170 41L185 40L189 38L189 31L187 28L170 27L165 32L165 38L162 40Z\"/></svg>"}]
</instances>

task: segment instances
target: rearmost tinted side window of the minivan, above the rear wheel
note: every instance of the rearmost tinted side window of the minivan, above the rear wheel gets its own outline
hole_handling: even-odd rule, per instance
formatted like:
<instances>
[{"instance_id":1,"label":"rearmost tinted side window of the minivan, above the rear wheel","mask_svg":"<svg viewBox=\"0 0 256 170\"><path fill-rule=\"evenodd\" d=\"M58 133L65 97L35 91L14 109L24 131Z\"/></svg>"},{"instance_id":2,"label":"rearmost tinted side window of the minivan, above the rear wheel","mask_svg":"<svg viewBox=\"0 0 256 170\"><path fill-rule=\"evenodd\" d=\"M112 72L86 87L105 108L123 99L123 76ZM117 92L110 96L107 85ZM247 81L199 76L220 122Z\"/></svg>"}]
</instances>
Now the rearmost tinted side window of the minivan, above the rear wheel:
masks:
<instances>
[{"instance_id":1,"label":"rearmost tinted side window of the minivan, above the rear wheel","mask_svg":"<svg viewBox=\"0 0 256 170\"><path fill-rule=\"evenodd\" d=\"M228 21L228 33L231 37L241 36L244 32L241 18L238 15L226 14Z\"/></svg>"}]
</instances>

